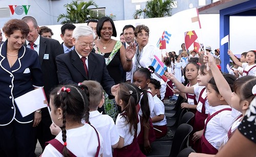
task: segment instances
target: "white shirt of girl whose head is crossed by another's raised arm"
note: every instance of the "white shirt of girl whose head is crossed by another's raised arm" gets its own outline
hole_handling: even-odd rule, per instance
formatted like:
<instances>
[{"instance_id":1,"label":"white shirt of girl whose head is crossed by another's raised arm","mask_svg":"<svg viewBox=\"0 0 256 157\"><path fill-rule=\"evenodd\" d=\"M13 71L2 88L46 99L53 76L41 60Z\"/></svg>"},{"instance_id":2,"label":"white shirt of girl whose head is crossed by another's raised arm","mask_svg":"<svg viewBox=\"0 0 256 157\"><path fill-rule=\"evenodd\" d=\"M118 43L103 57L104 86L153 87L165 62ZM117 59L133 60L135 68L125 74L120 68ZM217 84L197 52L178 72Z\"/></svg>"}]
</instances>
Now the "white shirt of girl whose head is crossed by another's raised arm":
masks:
<instances>
[{"instance_id":1,"label":"white shirt of girl whose head is crossed by another's raised arm","mask_svg":"<svg viewBox=\"0 0 256 157\"><path fill-rule=\"evenodd\" d=\"M228 105L210 107L209 114L212 115L225 108L231 109ZM205 122L206 120L207 119L205 119ZM231 116L231 111L226 110L212 117L207 123L204 136L216 149L219 149L224 143L224 138L227 135L229 128L232 126L233 120L234 118Z\"/></svg>"}]
</instances>

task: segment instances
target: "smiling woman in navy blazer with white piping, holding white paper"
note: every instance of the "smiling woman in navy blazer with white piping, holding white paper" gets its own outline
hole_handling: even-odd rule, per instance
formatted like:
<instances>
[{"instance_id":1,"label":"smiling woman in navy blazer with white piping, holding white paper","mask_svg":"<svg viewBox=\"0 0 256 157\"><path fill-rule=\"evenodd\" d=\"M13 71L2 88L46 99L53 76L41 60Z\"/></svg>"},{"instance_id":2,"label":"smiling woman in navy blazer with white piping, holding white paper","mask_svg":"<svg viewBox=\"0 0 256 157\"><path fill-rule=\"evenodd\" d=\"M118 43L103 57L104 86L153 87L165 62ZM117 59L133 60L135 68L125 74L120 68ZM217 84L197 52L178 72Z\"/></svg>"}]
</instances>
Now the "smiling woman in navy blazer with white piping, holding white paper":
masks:
<instances>
[{"instance_id":1,"label":"smiling woman in navy blazer with white piping, holding white paper","mask_svg":"<svg viewBox=\"0 0 256 157\"><path fill-rule=\"evenodd\" d=\"M7 40L0 47L0 156L34 156L33 126L41 120L40 111L22 117L14 99L43 86L38 55L24 46L29 34L24 21L7 21L3 32Z\"/></svg>"}]
</instances>

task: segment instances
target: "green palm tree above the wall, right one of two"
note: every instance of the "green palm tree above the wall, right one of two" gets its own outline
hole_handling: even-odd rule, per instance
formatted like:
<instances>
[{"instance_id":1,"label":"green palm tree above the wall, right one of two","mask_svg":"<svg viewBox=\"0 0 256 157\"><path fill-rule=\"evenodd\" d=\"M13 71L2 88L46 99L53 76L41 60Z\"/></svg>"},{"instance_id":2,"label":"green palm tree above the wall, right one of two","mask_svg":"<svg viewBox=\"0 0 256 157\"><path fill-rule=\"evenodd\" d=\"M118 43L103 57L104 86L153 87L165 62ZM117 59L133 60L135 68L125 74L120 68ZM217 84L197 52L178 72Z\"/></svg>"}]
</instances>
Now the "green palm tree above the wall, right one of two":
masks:
<instances>
[{"instance_id":1,"label":"green palm tree above the wall, right one of two","mask_svg":"<svg viewBox=\"0 0 256 157\"><path fill-rule=\"evenodd\" d=\"M172 0L149 0L146 2L146 8L136 10L133 17L137 19L142 14L144 18L172 16L172 7L174 5Z\"/></svg>"}]
</instances>

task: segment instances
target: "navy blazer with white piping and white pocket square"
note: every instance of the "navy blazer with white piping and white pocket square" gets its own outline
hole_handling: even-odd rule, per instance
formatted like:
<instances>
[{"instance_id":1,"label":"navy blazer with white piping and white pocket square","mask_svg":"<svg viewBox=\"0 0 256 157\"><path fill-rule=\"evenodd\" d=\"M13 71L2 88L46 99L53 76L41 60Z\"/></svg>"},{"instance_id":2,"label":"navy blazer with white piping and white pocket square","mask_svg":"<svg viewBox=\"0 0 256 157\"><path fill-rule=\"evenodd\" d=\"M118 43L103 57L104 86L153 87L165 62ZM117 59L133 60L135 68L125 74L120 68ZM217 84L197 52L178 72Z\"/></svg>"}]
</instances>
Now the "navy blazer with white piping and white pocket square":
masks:
<instances>
[{"instance_id":1,"label":"navy blazer with white piping and white pocket square","mask_svg":"<svg viewBox=\"0 0 256 157\"><path fill-rule=\"evenodd\" d=\"M22 46L12 67L7 60L7 40L0 48L0 126L17 122L32 122L34 113L26 117L20 114L14 98L42 87L42 71L35 50ZM32 106L33 104L28 104Z\"/></svg>"}]
</instances>

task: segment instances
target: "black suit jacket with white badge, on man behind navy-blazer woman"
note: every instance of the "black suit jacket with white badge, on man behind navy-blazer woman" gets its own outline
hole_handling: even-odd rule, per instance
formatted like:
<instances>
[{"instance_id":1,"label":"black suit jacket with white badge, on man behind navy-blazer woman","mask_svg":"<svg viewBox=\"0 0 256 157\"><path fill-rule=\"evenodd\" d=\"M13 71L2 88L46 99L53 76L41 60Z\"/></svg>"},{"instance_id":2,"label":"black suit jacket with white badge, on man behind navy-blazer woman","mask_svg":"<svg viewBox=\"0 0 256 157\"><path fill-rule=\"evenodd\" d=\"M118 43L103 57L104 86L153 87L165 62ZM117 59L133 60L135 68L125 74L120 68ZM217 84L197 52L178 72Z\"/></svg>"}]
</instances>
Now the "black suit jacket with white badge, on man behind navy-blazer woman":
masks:
<instances>
[{"instance_id":1,"label":"black suit jacket with white badge, on man behind navy-blazer woman","mask_svg":"<svg viewBox=\"0 0 256 157\"><path fill-rule=\"evenodd\" d=\"M49 102L50 90L59 84L55 59L56 56L63 54L63 50L57 40L39 37L39 62L44 79L44 89Z\"/></svg>"}]
</instances>

